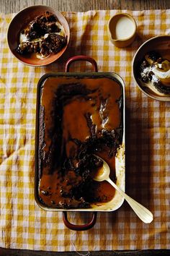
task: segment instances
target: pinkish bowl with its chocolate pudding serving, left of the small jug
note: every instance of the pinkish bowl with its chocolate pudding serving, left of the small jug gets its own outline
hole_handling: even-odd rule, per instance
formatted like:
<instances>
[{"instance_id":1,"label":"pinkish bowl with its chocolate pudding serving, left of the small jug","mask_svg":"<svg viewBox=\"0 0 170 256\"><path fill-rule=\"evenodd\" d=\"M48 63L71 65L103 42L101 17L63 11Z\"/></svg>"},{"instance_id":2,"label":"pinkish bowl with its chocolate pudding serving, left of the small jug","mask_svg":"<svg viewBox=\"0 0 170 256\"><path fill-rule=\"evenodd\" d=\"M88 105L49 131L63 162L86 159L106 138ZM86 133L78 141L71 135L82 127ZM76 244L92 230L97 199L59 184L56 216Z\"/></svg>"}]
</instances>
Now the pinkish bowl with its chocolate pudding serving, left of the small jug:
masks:
<instances>
[{"instance_id":1,"label":"pinkish bowl with its chocolate pudding serving, left of the small jug","mask_svg":"<svg viewBox=\"0 0 170 256\"><path fill-rule=\"evenodd\" d=\"M9 24L7 40L12 54L30 66L56 61L66 51L68 22L61 12L35 5L19 12Z\"/></svg>"}]
</instances>

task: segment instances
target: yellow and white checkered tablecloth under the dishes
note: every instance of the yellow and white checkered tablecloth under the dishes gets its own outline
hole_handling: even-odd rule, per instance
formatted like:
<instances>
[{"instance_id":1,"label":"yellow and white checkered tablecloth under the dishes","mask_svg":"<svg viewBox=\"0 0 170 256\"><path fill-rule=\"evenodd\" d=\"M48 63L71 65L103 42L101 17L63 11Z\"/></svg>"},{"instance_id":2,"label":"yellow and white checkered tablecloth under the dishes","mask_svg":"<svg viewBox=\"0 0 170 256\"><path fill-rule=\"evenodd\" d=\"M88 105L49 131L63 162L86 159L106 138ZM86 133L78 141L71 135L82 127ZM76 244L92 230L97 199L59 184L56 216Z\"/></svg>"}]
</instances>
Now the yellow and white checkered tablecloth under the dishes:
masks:
<instances>
[{"instance_id":1,"label":"yellow and white checkered tablecloth under the dishes","mask_svg":"<svg viewBox=\"0 0 170 256\"><path fill-rule=\"evenodd\" d=\"M27 67L12 56L6 31L14 14L0 15L0 247L55 251L170 249L170 103L140 92L131 74L135 51L143 41L170 33L170 9L122 11L132 14L138 37L128 48L109 42L107 22L120 10L65 12L71 29L66 53L47 67ZM154 215L151 224L124 202L112 213L98 213L89 231L71 231L62 213L35 203L34 155L37 82L42 74L63 71L73 55L88 55L99 71L116 72L125 81L126 192ZM72 68L91 68L84 63ZM72 222L86 213L70 213Z\"/></svg>"}]
</instances>

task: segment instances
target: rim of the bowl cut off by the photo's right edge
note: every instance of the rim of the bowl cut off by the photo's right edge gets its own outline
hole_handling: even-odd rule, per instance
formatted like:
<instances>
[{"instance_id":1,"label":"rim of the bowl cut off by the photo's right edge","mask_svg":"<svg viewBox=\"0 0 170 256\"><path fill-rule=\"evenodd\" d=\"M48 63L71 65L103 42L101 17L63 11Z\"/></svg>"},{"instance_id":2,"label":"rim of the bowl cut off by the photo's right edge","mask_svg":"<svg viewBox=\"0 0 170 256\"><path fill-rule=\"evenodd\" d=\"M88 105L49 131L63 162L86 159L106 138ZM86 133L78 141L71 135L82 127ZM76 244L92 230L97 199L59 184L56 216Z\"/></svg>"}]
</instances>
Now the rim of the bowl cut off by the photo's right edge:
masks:
<instances>
[{"instance_id":1,"label":"rim of the bowl cut off by the photo's right edge","mask_svg":"<svg viewBox=\"0 0 170 256\"><path fill-rule=\"evenodd\" d=\"M138 85L138 88L139 88L145 95L147 95L149 98L152 98L152 99L154 99L154 100L156 100L156 101L166 101L166 102L167 102L167 101L170 101L170 94L167 95L167 96L161 96L161 95L153 96L153 95L147 93L146 90L144 90L144 89L142 88L142 86L139 85L138 80L136 80L136 78L135 78L135 69L134 69L135 58L136 58L138 52L140 51L140 49L143 48L143 46L145 46L145 45L146 45L147 43L149 43L151 40L156 40L157 38L166 38L166 37L167 37L167 38L170 38L170 35L166 35L166 34L164 34L164 35L156 35L156 36L154 36L153 38L149 38L148 40L146 40L145 42L143 42L143 43L141 44L141 46L139 46L138 50L135 52L135 55L133 56L133 61L132 61L132 66L131 66L131 67L132 67L132 73L133 73L133 80L135 80L136 84Z\"/></svg>"}]
</instances>

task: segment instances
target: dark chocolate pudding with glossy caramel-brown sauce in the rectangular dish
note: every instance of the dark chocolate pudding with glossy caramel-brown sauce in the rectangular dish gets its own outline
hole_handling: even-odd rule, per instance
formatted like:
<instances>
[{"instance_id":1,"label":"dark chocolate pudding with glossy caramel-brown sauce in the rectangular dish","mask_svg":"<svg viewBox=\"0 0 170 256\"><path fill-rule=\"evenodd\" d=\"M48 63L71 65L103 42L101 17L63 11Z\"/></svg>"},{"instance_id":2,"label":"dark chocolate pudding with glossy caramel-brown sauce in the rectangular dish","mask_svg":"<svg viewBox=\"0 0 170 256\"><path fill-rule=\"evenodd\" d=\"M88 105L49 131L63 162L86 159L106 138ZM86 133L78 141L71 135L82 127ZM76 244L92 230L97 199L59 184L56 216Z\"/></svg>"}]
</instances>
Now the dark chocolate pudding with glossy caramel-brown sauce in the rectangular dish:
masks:
<instances>
[{"instance_id":1,"label":"dark chocolate pudding with glossy caramel-brown sauce in the rectangular dish","mask_svg":"<svg viewBox=\"0 0 170 256\"><path fill-rule=\"evenodd\" d=\"M122 87L113 77L50 76L40 88L38 197L48 208L91 208L109 202L115 189L95 182L107 161L116 182L122 144Z\"/></svg>"}]
</instances>

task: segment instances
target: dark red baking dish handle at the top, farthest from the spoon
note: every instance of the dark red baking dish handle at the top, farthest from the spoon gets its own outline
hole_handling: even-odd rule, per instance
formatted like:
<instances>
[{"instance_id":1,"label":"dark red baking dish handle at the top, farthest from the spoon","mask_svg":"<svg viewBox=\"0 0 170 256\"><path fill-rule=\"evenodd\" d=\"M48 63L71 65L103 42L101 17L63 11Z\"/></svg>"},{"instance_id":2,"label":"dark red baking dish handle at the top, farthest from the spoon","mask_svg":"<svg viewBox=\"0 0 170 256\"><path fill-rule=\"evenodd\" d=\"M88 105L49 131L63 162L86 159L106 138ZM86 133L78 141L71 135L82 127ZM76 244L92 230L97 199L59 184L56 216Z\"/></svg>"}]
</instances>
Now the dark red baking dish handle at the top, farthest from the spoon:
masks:
<instances>
[{"instance_id":1,"label":"dark red baking dish handle at the top, farthest from the spoon","mask_svg":"<svg viewBox=\"0 0 170 256\"><path fill-rule=\"evenodd\" d=\"M97 62L93 58L91 58L89 56L85 56L85 55L78 55L78 56L73 56L66 61L65 72L69 72L71 63L73 63L75 61L89 61L94 68L94 72L98 71Z\"/></svg>"}]
</instances>

